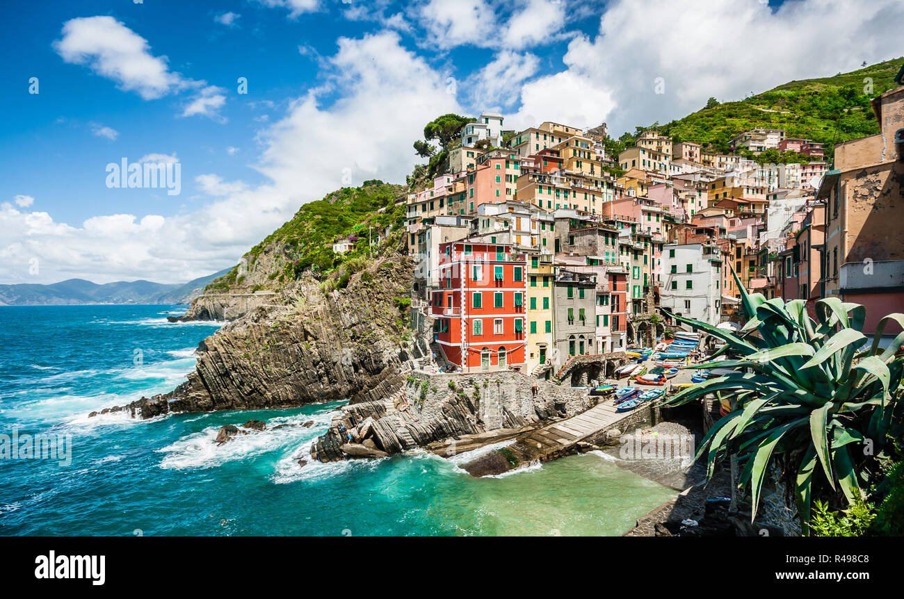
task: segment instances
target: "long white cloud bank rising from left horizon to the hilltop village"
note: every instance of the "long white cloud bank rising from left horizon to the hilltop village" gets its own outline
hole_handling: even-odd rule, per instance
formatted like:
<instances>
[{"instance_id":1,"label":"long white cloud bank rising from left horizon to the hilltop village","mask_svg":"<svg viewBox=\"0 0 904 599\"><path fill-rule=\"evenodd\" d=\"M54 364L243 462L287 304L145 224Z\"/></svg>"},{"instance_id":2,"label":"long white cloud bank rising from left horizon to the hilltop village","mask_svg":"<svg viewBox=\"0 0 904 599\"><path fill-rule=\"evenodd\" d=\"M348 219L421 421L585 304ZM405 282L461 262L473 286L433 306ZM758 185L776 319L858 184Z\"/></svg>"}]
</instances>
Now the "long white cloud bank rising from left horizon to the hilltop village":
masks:
<instances>
[{"instance_id":1,"label":"long white cloud bank rising from left horizon to the hilltop village","mask_svg":"<svg viewBox=\"0 0 904 599\"><path fill-rule=\"evenodd\" d=\"M252 187L208 173L195 180L212 194L197 210L99 215L77 225L5 202L0 279L187 281L235 264L307 201L366 179L404 181L416 161L411 142L431 119L460 112L456 98L447 94L444 77L403 48L396 33L341 38L338 45L323 73L329 95L313 90L296 98L259 132L263 150L253 166L266 183ZM141 161L161 157L176 159L148 154ZM31 260L40 265L37 276L29 275Z\"/></svg>"}]
</instances>

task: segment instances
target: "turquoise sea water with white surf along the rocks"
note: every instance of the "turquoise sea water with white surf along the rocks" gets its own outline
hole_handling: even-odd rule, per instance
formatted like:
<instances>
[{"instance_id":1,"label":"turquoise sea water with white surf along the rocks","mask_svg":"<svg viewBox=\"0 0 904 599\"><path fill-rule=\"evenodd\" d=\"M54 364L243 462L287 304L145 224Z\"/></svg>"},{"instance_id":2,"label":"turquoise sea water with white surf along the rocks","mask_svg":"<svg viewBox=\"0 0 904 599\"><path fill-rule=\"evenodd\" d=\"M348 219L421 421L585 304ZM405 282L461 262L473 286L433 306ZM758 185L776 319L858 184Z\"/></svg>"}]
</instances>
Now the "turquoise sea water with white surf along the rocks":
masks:
<instances>
[{"instance_id":1,"label":"turquoise sea water with white surf along the rocks","mask_svg":"<svg viewBox=\"0 0 904 599\"><path fill-rule=\"evenodd\" d=\"M299 467L293 457L308 457L338 403L88 418L184 380L217 326L165 322L182 311L0 307L0 435L72 444L68 465L0 460L0 534L617 535L674 495L592 453L487 479L424 453ZM250 418L269 430L213 443L220 426Z\"/></svg>"}]
</instances>

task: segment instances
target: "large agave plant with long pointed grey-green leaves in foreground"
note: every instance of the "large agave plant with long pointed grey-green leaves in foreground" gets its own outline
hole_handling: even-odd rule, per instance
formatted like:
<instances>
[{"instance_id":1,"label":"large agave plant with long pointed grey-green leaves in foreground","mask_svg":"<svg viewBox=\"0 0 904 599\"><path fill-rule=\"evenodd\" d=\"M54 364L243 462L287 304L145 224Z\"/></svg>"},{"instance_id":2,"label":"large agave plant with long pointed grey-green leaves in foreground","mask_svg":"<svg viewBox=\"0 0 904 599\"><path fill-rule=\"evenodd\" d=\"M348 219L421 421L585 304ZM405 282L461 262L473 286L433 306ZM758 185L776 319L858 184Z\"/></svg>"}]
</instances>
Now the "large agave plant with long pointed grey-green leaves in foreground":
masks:
<instances>
[{"instance_id":1,"label":"large agave plant with long pointed grey-green leaves in foreground","mask_svg":"<svg viewBox=\"0 0 904 599\"><path fill-rule=\"evenodd\" d=\"M821 299L814 321L804 300L767 300L748 294L737 275L735 281L748 319L739 332L670 314L726 343L710 361L692 368L734 371L687 388L669 403L733 395L738 408L711 427L697 457L706 454L711 476L717 456L737 456L743 464L740 483L751 492L751 520L768 466L779 456L787 458L786 466L796 469L795 495L806 530L817 472L833 490L840 487L848 503L861 498L867 482L863 446L884 444L902 403L904 359L896 354L904 332L883 349L880 338L887 323L904 327L904 314L882 318L870 342L862 333L866 309L860 304ZM725 353L732 358L720 358Z\"/></svg>"}]
</instances>

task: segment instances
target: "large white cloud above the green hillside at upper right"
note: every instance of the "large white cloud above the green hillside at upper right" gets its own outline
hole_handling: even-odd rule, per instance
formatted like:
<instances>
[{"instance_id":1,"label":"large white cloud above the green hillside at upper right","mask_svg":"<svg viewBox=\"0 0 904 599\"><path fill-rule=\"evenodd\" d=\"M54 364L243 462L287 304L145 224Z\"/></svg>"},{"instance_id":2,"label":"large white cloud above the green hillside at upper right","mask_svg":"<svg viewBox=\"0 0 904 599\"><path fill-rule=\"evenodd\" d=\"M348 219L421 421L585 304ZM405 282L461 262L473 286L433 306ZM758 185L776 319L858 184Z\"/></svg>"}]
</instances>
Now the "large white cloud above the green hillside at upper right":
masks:
<instances>
[{"instance_id":1,"label":"large white cloud above the green hillside at upper right","mask_svg":"<svg viewBox=\"0 0 904 599\"><path fill-rule=\"evenodd\" d=\"M582 120L607 118L617 135L683 117L711 96L741 99L888 60L900 54L902 22L899 0L799 0L775 11L758 0L617 0L607 5L598 34L570 42L563 61L571 76L615 98L609 117L593 109ZM654 93L659 77L664 94Z\"/></svg>"}]
</instances>

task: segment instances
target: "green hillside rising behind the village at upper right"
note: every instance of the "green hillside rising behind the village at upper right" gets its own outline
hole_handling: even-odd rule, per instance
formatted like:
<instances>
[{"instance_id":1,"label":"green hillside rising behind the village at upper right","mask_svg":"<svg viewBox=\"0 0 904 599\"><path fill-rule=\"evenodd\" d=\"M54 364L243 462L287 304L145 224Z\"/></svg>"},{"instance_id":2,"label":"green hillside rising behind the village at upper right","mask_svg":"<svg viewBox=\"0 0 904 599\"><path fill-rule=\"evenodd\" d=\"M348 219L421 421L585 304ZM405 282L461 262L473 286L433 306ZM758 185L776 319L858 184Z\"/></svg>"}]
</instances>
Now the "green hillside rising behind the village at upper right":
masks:
<instances>
[{"instance_id":1,"label":"green hillside rising behind the village at upper right","mask_svg":"<svg viewBox=\"0 0 904 599\"><path fill-rule=\"evenodd\" d=\"M892 89L901 61L896 58L833 77L789 81L737 102L710 98L706 107L664 125L638 126L634 134L612 140L609 153L632 145L645 129L657 129L675 142L695 142L720 153L730 152L729 140L755 127L785 129L788 137L813 139L825 145L826 158L834 145L879 133L870 98ZM869 87L871 85L871 88ZM618 150L620 151L620 150ZM801 160L806 160L802 158Z\"/></svg>"}]
</instances>

